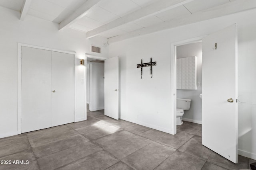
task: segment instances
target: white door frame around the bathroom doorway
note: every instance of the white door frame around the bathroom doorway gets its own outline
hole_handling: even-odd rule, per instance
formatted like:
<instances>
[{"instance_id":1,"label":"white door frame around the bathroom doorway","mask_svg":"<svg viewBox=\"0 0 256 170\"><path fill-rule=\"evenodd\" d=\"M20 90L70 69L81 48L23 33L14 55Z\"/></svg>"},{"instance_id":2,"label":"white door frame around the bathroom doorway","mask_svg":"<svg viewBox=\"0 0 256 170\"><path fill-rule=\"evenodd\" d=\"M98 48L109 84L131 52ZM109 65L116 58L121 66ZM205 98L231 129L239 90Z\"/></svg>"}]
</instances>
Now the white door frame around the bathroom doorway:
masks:
<instances>
[{"instance_id":1,"label":"white door frame around the bathroom doorway","mask_svg":"<svg viewBox=\"0 0 256 170\"><path fill-rule=\"evenodd\" d=\"M171 134L175 135L177 133L177 123L176 123L176 100L177 100L177 68L176 68L176 47L180 45L186 45L190 43L197 43L202 41L203 35L200 37L194 37L192 39L186 39L182 41L177 41L171 44Z\"/></svg>"}]
</instances>

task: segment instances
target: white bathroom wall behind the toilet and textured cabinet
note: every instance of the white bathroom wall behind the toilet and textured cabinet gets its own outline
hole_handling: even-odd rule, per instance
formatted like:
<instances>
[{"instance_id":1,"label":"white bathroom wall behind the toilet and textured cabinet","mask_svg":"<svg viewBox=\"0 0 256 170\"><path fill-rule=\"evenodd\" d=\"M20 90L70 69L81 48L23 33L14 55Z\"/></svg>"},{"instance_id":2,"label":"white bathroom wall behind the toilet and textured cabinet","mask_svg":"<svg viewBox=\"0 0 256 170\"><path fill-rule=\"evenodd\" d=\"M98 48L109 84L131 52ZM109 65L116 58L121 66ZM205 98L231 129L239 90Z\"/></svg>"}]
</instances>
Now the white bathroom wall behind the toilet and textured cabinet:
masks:
<instances>
[{"instance_id":1,"label":"white bathroom wall behind the toilet and textured cabinet","mask_svg":"<svg viewBox=\"0 0 256 170\"><path fill-rule=\"evenodd\" d=\"M197 82L201 83L197 90L177 90L177 98L191 99L190 109L185 111L182 119L202 124L202 42L180 45L176 48L177 59L184 57L197 57Z\"/></svg>"}]
</instances>

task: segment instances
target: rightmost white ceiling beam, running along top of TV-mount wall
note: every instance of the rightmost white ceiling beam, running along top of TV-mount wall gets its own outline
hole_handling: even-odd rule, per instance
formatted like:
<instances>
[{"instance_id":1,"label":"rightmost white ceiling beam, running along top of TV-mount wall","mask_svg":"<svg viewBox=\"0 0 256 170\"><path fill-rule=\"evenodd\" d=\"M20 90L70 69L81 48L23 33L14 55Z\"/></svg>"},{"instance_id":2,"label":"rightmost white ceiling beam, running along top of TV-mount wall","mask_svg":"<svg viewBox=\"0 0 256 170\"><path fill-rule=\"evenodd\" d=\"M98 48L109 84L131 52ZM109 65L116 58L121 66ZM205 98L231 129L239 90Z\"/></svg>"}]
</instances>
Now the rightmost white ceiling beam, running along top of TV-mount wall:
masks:
<instances>
[{"instance_id":1,"label":"rightmost white ceiling beam, running along top of TV-mount wall","mask_svg":"<svg viewBox=\"0 0 256 170\"><path fill-rule=\"evenodd\" d=\"M108 38L108 43L114 43L117 41L122 41L124 39L129 39L129 38L137 37L140 35L146 35L146 34L150 34L157 31L162 31L162 30L171 29L174 27L188 25L191 23L210 20L213 18L226 16L226 15L230 15L230 14L234 14L237 12L242 12L242 11L250 10L254 8L256 8L256 0L236 0L234 2L216 6L208 10L203 10L201 12L196 12L194 14L180 16L178 18L163 22L161 24L145 27L142 29L137 29L135 31L118 35L116 37Z\"/></svg>"}]
</instances>

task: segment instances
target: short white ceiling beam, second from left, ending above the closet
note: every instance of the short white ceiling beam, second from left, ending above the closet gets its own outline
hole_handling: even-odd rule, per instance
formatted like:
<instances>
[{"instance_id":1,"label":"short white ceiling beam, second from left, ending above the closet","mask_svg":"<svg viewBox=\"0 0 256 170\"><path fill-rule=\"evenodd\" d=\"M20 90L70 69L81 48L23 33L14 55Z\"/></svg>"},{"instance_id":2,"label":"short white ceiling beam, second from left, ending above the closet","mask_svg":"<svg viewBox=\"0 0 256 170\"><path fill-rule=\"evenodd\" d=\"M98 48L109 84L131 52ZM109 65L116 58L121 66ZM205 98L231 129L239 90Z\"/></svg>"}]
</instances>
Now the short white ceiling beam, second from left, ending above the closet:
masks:
<instances>
[{"instance_id":1,"label":"short white ceiling beam, second from left, ending above the closet","mask_svg":"<svg viewBox=\"0 0 256 170\"><path fill-rule=\"evenodd\" d=\"M83 18L88 12L92 10L96 4L98 4L101 0L87 0L82 6L80 6L76 11L74 11L70 16L68 16L65 20L59 23L59 30L68 27L75 21Z\"/></svg>"}]
</instances>

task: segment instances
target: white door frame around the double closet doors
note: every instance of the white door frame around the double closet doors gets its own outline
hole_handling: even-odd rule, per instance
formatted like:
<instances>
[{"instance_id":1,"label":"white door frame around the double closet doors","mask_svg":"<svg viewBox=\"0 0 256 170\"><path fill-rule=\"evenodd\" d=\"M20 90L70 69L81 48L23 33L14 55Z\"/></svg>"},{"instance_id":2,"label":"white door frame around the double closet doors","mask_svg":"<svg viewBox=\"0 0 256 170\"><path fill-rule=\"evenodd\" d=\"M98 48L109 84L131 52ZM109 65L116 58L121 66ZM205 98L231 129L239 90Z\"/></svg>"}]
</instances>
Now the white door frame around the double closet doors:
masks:
<instances>
[{"instance_id":1,"label":"white door frame around the double closet doors","mask_svg":"<svg viewBox=\"0 0 256 170\"><path fill-rule=\"evenodd\" d=\"M18 43L18 134L21 134L21 57L22 57L22 47L30 47L30 48L36 48L36 49L42 49L42 50L48 50L48 51L55 51L55 52L60 52L60 53L67 53L67 54L72 54L74 55L75 62L74 62L74 122L76 122L76 66L78 66L76 62L76 53L71 52L71 51L63 51L63 50L58 50L58 49L50 49L47 47L40 47L36 45L29 45L29 44L24 44L24 43Z\"/></svg>"}]
</instances>

